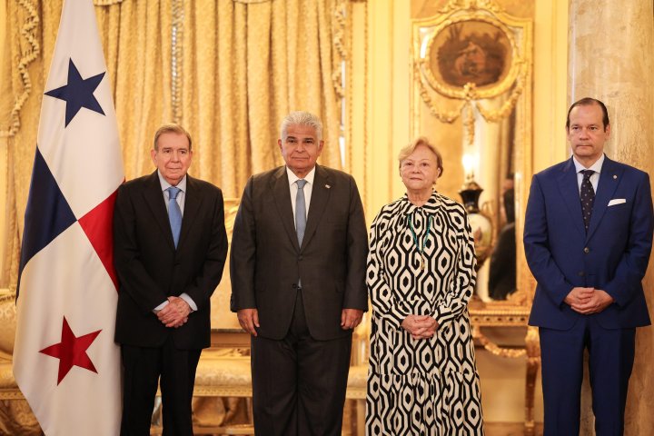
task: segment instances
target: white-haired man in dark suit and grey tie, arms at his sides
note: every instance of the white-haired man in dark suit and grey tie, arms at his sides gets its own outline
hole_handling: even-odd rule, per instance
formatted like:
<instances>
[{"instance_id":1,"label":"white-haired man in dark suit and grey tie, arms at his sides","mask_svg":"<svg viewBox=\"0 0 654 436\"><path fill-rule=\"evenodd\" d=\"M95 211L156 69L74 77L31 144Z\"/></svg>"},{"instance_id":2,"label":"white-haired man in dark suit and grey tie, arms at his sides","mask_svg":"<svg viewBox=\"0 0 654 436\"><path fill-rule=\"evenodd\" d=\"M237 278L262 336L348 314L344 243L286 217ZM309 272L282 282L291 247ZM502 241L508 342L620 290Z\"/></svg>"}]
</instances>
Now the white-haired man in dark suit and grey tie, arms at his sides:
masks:
<instances>
[{"instance_id":1,"label":"white-haired man in dark suit and grey tie, arms at his sides","mask_svg":"<svg viewBox=\"0 0 654 436\"><path fill-rule=\"evenodd\" d=\"M250 178L236 215L232 311L252 334L254 429L340 435L352 329L368 308L367 234L351 175L317 165L322 123L293 112L285 166Z\"/></svg>"}]
</instances>

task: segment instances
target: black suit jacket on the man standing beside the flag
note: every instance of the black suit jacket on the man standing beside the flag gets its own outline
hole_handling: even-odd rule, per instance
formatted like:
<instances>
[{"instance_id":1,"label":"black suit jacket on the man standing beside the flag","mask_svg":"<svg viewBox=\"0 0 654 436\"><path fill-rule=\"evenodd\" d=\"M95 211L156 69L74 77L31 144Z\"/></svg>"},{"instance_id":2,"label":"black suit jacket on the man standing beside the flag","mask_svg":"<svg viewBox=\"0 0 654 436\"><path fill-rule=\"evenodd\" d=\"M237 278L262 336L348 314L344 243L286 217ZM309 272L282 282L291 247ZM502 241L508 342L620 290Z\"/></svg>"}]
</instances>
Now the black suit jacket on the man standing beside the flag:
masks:
<instances>
[{"instance_id":1,"label":"black suit jacket on the man standing beside the flag","mask_svg":"<svg viewBox=\"0 0 654 436\"><path fill-rule=\"evenodd\" d=\"M124 183L114 209L114 263L120 282L115 341L156 347L169 335L179 349L210 345L210 302L227 255L223 193L187 175L175 250L157 172ZM195 304L182 327L166 328L153 309L186 292Z\"/></svg>"}]
</instances>

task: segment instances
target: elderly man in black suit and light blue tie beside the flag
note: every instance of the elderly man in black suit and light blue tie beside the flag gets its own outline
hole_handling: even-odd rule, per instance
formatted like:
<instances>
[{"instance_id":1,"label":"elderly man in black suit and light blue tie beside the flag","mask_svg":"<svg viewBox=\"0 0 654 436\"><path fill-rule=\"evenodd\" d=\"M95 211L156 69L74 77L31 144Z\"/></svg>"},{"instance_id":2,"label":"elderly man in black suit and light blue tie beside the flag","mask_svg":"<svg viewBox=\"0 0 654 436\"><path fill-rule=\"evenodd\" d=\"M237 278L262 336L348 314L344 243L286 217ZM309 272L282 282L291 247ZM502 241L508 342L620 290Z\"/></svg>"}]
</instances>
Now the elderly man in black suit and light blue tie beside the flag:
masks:
<instances>
[{"instance_id":1,"label":"elderly man in black suit and light blue tie beside the flag","mask_svg":"<svg viewBox=\"0 0 654 436\"><path fill-rule=\"evenodd\" d=\"M195 369L210 344L209 297L223 275L227 235L223 193L187 174L191 144L182 126L163 125L151 152L157 171L124 183L116 197L121 435L150 434L160 377L163 434L193 435Z\"/></svg>"}]
</instances>

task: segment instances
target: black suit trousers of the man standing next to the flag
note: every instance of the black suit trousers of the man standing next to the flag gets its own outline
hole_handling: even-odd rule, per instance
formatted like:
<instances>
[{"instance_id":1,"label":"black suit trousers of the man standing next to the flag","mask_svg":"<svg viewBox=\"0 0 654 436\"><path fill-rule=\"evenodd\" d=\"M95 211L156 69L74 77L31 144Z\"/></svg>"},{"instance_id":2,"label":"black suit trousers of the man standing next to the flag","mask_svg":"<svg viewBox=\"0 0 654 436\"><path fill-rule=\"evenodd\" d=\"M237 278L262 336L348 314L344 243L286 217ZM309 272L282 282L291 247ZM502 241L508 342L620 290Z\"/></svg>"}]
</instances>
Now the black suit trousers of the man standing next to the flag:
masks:
<instances>
[{"instance_id":1,"label":"black suit trousers of the man standing next to the flag","mask_svg":"<svg viewBox=\"0 0 654 436\"><path fill-rule=\"evenodd\" d=\"M122 345L121 436L146 436L161 375L163 436L193 436L191 401L202 350L178 350L169 335L159 348Z\"/></svg>"}]
</instances>

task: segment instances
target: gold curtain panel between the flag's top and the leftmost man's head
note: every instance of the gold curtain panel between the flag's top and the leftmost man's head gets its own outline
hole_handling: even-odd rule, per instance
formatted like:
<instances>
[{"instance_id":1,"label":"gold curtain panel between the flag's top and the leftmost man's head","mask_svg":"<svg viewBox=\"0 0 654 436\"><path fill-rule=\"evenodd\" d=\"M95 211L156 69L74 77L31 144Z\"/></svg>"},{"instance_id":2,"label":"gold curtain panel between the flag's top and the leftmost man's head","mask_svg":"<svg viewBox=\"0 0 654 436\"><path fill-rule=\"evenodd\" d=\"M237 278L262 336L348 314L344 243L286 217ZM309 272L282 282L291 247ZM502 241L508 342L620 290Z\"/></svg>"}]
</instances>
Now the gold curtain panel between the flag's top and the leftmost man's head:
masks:
<instances>
[{"instance_id":1,"label":"gold curtain panel between the flag's top and the leftmost man's head","mask_svg":"<svg viewBox=\"0 0 654 436\"><path fill-rule=\"evenodd\" d=\"M96 2L97 4L97 2ZM125 178L154 170L154 131L171 121L171 0L96 6L123 148Z\"/></svg>"}]
</instances>

